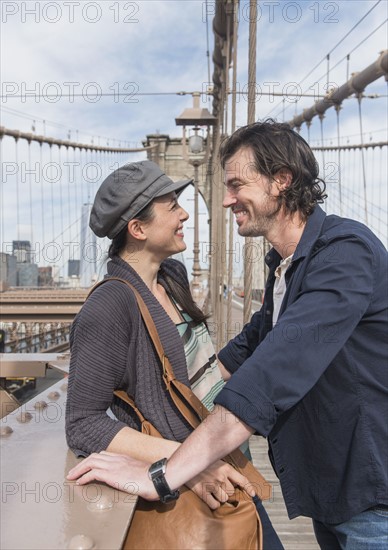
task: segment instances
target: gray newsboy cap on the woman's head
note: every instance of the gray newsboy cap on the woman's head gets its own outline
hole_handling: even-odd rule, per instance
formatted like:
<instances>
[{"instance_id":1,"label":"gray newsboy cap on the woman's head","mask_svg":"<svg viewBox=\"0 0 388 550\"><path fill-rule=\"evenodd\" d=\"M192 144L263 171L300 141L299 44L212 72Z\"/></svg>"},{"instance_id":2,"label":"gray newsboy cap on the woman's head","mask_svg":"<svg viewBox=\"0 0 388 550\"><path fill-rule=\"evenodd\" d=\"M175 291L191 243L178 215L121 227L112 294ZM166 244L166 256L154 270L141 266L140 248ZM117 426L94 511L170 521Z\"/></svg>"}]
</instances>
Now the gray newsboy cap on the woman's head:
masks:
<instances>
[{"instance_id":1,"label":"gray newsboy cap on the woman's head","mask_svg":"<svg viewBox=\"0 0 388 550\"><path fill-rule=\"evenodd\" d=\"M174 182L150 160L125 164L102 182L89 225L98 237L113 239L153 199L182 190L192 181Z\"/></svg>"}]
</instances>

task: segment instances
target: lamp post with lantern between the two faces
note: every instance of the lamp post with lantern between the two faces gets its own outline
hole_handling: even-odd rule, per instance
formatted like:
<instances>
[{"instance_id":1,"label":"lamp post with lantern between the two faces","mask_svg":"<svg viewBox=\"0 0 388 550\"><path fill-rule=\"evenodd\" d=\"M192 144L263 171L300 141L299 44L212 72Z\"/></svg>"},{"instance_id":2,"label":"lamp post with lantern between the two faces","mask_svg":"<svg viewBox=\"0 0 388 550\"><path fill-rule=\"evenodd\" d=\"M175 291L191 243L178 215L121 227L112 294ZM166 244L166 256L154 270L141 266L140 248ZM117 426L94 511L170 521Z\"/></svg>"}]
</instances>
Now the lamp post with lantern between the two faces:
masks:
<instances>
[{"instance_id":1,"label":"lamp post with lantern between the two faces","mask_svg":"<svg viewBox=\"0 0 388 550\"><path fill-rule=\"evenodd\" d=\"M202 109L199 106L200 92L193 92L193 107L185 109L183 113L175 119L177 126L182 126L182 156L184 160L194 167L194 246L193 246L193 297L198 298L200 294L201 264L199 262L199 167L205 164L210 154L209 128L216 122L216 117L209 113L208 109ZM188 147L186 140L186 127L193 127L194 134L189 136ZM206 150L204 151L204 139L198 134L201 126L207 127ZM205 153L205 154L203 154ZM191 155L191 156L190 156Z\"/></svg>"}]
</instances>

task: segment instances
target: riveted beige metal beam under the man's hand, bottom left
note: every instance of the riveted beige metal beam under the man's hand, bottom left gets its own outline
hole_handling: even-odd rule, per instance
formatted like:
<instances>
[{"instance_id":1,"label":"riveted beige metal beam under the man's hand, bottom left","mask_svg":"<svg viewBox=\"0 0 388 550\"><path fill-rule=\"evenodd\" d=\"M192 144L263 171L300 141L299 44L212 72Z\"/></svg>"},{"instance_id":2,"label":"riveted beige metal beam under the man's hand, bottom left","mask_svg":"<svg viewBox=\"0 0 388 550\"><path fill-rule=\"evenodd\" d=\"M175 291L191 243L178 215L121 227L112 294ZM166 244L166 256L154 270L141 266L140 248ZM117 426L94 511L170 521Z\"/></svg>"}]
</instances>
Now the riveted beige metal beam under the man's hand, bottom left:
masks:
<instances>
[{"instance_id":1,"label":"riveted beige metal beam under the man's hand, bottom left","mask_svg":"<svg viewBox=\"0 0 388 550\"><path fill-rule=\"evenodd\" d=\"M64 371L63 380L0 420L0 547L119 550L136 497L66 480L79 460L65 440L67 365L63 359L49 365Z\"/></svg>"}]
</instances>

